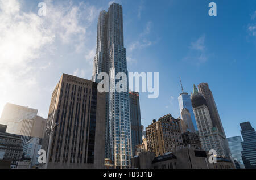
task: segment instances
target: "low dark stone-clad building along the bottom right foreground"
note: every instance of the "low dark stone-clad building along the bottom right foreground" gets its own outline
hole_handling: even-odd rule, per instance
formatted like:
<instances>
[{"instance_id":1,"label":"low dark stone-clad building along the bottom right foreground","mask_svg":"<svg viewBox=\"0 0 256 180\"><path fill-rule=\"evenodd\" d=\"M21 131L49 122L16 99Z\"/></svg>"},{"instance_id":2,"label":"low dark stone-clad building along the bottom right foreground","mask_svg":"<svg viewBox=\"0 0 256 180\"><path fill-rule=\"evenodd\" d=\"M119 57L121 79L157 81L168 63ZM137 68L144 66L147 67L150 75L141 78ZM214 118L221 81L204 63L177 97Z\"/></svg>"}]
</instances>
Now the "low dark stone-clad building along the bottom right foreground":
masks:
<instances>
[{"instance_id":1,"label":"low dark stone-clad building along the bottom right foreground","mask_svg":"<svg viewBox=\"0 0 256 180\"><path fill-rule=\"evenodd\" d=\"M183 148L155 157L153 152L141 152L131 159L133 168L138 169L234 169L232 161L218 158L216 164L208 161L206 151Z\"/></svg>"}]
</instances>

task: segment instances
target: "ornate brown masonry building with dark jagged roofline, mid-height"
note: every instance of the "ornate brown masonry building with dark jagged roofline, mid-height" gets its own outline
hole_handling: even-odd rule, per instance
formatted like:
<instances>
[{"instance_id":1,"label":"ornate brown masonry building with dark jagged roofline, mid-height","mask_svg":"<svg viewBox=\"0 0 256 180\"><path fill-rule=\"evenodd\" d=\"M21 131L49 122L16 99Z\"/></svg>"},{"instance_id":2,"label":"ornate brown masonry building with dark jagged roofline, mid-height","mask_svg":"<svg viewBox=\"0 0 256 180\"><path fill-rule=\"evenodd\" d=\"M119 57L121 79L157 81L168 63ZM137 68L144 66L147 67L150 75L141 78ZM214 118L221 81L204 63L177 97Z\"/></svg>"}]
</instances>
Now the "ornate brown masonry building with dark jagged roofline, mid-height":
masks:
<instances>
[{"instance_id":1,"label":"ornate brown masonry building with dark jagged roofline, mid-height","mask_svg":"<svg viewBox=\"0 0 256 180\"><path fill-rule=\"evenodd\" d=\"M167 152L174 152L183 148L179 119L171 114L155 119L146 127L147 150L154 152L156 156Z\"/></svg>"}]
</instances>

